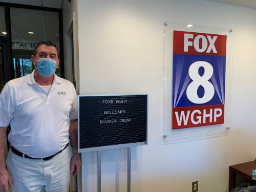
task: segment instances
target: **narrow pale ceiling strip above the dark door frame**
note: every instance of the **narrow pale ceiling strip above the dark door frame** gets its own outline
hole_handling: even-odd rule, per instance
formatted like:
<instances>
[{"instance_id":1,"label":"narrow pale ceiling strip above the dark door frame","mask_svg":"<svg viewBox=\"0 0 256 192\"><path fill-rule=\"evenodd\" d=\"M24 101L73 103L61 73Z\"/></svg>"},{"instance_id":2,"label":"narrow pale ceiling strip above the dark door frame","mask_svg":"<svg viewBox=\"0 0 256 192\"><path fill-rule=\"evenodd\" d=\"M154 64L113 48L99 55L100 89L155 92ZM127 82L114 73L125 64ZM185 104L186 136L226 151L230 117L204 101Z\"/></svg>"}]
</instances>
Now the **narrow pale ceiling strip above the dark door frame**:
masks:
<instances>
[{"instance_id":1,"label":"narrow pale ceiling strip above the dark door frame","mask_svg":"<svg viewBox=\"0 0 256 192\"><path fill-rule=\"evenodd\" d=\"M0 2L33 5L33 6L44 6L51 8L62 8L62 1L67 0L0 0Z\"/></svg>"}]
</instances>

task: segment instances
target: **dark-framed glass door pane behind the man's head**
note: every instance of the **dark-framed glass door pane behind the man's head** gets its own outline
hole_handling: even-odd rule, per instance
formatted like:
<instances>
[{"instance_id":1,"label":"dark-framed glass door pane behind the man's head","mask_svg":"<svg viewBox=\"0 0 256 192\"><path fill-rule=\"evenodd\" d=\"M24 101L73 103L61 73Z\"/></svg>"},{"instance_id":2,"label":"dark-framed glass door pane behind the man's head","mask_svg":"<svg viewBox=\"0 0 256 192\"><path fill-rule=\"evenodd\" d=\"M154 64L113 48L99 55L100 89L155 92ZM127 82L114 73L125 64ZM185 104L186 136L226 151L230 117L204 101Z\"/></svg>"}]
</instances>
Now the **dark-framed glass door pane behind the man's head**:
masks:
<instances>
[{"instance_id":1,"label":"dark-framed glass door pane behind the man's head","mask_svg":"<svg viewBox=\"0 0 256 192\"><path fill-rule=\"evenodd\" d=\"M52 41L60 52L59 15L53 11L11 7L10 18L13 78L18 78L34 70L31 55L40 40ZM59 68L56 74L61 75Z\"/></svg>"}]
</instances>

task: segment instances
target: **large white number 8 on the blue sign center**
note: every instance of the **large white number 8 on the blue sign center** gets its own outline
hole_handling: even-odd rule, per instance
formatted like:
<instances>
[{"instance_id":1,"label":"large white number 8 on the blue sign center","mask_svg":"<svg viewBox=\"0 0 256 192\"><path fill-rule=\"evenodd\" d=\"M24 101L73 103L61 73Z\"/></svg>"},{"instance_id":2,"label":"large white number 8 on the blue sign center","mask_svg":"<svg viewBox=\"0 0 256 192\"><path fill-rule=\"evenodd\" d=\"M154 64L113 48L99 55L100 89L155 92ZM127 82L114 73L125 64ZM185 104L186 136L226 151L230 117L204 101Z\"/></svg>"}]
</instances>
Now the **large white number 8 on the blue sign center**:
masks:
<instances>
[{"instance_id":1,"label":"large white number 8 on the blue sign center","mask_svg":"<svg viewBox=\"0 0 256 192\"><path fill-rule=\"evenodd\" d=\"M203 76L200 76L198 70L200 67L204 68ZM206 61L196 61L191 64L188 69L188 75L193 80L186 90L187 98L189 101L202 104L210 101L214 97L215 89L214 86L209 82L212 74L214 74L214 68L210 63ZM202 98L198 97L197 90L199 86L204 88L204 95Z\"/></svg>"}]
</instances>

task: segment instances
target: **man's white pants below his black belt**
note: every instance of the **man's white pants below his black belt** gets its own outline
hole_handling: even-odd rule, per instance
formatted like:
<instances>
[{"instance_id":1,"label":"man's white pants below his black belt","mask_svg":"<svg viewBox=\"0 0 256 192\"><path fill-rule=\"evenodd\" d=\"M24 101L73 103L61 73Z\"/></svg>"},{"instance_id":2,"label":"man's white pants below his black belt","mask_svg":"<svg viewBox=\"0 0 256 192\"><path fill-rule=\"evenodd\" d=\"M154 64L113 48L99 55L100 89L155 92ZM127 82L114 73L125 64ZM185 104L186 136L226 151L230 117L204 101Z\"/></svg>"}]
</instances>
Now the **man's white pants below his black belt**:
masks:
<instances>
[{"instance_id":1,"label":"man's white pants below his black belt","mask_svg":"<svg viewBox=\"0 0 256 192\"><path fill-rule=\"evenodd\" d=\"M12 177L12 191L69 191L71 157L70 144L61 153L46 161L23 158L10 150L6 164Z\"/></svg>"}]
</instances>

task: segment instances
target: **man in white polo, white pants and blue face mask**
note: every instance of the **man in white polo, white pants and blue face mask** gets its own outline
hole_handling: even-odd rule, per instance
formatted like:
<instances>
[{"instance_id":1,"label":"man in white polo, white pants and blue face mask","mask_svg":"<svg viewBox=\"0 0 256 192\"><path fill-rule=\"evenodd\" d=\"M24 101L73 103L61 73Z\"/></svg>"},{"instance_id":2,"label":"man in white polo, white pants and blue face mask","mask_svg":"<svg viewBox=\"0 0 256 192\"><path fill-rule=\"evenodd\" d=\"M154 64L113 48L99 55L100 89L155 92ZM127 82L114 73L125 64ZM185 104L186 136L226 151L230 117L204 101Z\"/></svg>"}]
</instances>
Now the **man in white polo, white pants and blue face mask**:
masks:
<instances>
[{"instance_id":1,"label":"man in white polo, white pants and blue face mask","mask_svg":"<svg viewBox=\"0 0 256 192\"><path fill-rule=\"evenodd\" d=\"M77 175L81 166L77 95L70 81L54 74L56 45L40 41L31 58L35 70L9 81L0 95L0 192L8 185L13 192L66 192L70 172ZM5 161L9 124L11 150Z\"/></svg>"}]
</instances>

